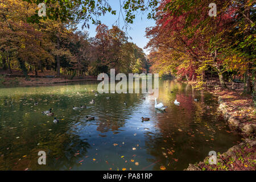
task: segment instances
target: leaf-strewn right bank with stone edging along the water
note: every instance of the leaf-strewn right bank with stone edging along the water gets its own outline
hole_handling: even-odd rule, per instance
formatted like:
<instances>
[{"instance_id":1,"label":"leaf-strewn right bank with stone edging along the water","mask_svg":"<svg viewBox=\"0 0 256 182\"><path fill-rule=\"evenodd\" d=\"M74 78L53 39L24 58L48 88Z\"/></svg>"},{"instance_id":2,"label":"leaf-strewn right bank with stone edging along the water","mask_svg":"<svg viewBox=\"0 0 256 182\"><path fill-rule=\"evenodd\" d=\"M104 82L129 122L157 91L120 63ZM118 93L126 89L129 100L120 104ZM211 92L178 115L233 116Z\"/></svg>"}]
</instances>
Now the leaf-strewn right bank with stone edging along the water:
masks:
<instances>
[{"instance_id":1,"label":"leaf-strewn right bank with stone edging along the water","mask_svg":"<svg viewBox=\"0 0 256 182\"><path fill-rule=\"evenodd\" d=\"M242 142L229 148L223 154L218 153L217 164L209 164L209 156L207 156L203 162L188 164L188 168L184 171L255 171L256 110L252 104L250 105L252 98L242 96L241 93L233 90L215 89L207 91L218 97L218 110L224 116L230 130L242 136Z\"/></svg>"}]
</instances>

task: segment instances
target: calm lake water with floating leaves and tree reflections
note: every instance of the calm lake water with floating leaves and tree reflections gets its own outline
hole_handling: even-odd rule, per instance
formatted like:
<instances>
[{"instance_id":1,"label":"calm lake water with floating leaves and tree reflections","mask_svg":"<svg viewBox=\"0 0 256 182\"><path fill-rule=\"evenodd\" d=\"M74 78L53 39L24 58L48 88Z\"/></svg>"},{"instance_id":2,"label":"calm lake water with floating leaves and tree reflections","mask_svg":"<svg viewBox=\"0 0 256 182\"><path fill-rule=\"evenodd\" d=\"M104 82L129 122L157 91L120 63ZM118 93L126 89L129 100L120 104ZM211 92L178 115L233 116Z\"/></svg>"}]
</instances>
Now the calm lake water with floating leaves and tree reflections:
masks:
<instances>
[{"instance_id":1,"label":"calm lake water with floating leaves and tree reflections","mask_svg":"<svg viewBox=\"0 0 256 182\"><path fill-rule=\"evenodd\" d=\"M241 140L216 114L217 98L190 85L159 82L166 113L155 110L150 94L95 97L92 90L97 83L1 88L0 170L183 170ZM72 109L80 105L87 108ZM49 108L59 123L42 114ZM46 165L38 164L39 151L46 151Z\"/></svg>"}]
</instances>

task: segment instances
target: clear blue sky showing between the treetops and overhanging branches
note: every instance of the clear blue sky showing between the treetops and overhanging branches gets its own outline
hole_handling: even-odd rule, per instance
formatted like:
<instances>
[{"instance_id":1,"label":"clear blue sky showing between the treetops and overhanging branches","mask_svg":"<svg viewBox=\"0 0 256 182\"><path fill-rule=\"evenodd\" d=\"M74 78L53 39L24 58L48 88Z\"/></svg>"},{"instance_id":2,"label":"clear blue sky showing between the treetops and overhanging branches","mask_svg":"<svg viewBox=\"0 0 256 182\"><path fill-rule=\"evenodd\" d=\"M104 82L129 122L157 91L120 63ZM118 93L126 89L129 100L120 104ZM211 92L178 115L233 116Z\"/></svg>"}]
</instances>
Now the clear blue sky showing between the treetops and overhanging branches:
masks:
<instances>
[{"instance_id":1,"label":"clear blue sky showing between the treetops and overhanging branches","mask_svg":"<svg viewBox=\"0 0 256 182\"><path fill-rule=\"evenodd\" d=\"M112 25L115 23L115 21L118 19L118 13L119 13L119 1L118 0L110 0L109 1L110 6L112 6L113 10L117 10L117 15L112 15L110 13L106 14L105 16L101 16L99 19L101 20L101 23L106 24L106 26L109 27L109 29L112 27ZM81 23L82 24L82 23ZM81 24L79 27L81 28ZM84 30L89 32L89 36L93 37L96 35L96 26L92 23L90 24L89 30L87 28L84 28ZM119 20L119 28L122 28L124 25L122 16L120 16ZM129 36L132 38L129 39L129 42L133 42L137 44L138 47L143 48L144 53L148 54L149 52L144 49L144 46L146 46L148 39L145 36L145 30L146 27L152 27L155 26L155 20L147 19L147 13L142 14L138 13L136 18L134 19L133 24L130 24L131 29L128 29L127 32Z\"/></svg>"}]
</instances>

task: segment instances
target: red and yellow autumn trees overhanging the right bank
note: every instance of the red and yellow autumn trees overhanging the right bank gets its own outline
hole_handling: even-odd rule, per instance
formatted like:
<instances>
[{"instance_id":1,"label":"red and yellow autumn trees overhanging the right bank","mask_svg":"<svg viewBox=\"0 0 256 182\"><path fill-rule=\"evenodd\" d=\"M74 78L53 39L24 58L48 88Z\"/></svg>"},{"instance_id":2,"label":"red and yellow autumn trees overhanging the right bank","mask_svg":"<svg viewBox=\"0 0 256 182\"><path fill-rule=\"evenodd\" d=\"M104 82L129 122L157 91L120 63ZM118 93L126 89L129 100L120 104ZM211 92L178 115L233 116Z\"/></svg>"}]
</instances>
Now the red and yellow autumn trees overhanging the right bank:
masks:
<instances>
[{"instance_id":1,"label":"red and yellow autumn trees overhanging the right bank","mask_svg":"<svg viewBox=\"0 0 256 182\"><path fill-rule=\"evenodd\" d=\"M156 26L146 31L151 49L151 71L196 81L202 88L217 77L245 82L245 93L255 90L255 1L160 1ZM253 88L254 86L254 88Z\"/></svg>"}]
</instances>

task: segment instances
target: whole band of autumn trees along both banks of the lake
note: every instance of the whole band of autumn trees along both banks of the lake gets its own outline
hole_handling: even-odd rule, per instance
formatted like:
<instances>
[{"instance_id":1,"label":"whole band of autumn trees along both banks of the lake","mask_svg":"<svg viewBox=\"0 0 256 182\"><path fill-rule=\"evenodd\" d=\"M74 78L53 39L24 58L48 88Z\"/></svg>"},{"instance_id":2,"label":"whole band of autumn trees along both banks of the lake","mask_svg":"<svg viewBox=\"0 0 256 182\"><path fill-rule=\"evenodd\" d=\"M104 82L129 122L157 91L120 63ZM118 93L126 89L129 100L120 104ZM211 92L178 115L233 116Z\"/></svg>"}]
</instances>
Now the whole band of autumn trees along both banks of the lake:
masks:
<instances>
[{"instance_id":1,"label":"whole band of autumn trees along both banks of the lake","mask_svg":"<svg viewBox=\"0 0 256 182\"><path fill-rule=\"evenodd\" d=\"M36 5L45 2L47 16L38 17ZM7 0L1 2L0 55L3 69L37 72L53 69L67 75L97 75L115 68L116 73L147 71L179 80L196 81L203 88L217 77L226 82L244 82L244 93L255 93L255 1L214 1L216 16L209 16L210 1L123 0L120 14L133 23L138 11L156 20L148 27L147 58L141 48L128 42L126 31L111 29L98 20L117 14L106 0ZM88 22L98 24L89 38L77 31ZM104 23L104 22L103 22ZM127 27L126 27L127 28ZM255 94L254 94L255 95Z\"/></svg>"}]
</instances>

